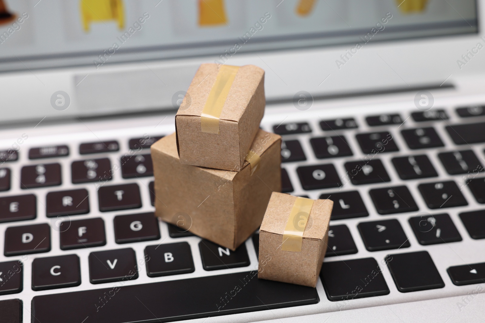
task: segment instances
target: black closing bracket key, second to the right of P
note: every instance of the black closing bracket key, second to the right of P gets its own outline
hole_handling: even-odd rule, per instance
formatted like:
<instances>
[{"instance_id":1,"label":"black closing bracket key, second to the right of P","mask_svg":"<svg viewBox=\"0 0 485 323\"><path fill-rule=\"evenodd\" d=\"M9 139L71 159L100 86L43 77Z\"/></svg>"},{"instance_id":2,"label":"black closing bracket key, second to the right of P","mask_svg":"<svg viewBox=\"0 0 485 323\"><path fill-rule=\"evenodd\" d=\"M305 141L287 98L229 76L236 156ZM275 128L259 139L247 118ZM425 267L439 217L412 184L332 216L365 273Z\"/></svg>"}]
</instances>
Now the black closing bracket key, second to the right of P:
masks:
<instances>
[{"instance_id":1,"label":"black closing bracket key, second to the right of P","mask_svg":"<svg viewBox=\"0 0 485 323\"><path fill-rule=\"evenodd\" d=\"M484 166L472 150L461 150L438 154L439 160L450 175L484 171Z\"/></svg>"}]
</instances>

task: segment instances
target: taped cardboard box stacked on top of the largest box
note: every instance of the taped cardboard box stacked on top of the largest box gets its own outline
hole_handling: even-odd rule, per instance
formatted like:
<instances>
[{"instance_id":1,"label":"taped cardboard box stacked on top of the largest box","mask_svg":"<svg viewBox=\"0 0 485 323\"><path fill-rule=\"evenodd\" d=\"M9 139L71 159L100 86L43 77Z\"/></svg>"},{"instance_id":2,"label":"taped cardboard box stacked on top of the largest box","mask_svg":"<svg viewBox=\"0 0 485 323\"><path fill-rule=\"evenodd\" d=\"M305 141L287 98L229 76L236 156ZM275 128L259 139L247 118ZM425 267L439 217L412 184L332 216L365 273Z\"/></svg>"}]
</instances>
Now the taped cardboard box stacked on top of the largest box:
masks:
<instances>
[{"instance_id":1,"label":"taped cardboard box stacked on top of the largest box","mask_svg":"<svg viewBox=\"0 0 485 323\"><path fill-rule=\"evenodd\" d=\"M221 77L223 74L229 75L229 79ZM226 92L218 87L217 79L217 84L226 84ZM258 132L265 104L261 68L200 65L175 117L180 162L215 169L241 169ZM217 106L222 108L219 119L201 117Z\"/></svg>"}]
</instances>

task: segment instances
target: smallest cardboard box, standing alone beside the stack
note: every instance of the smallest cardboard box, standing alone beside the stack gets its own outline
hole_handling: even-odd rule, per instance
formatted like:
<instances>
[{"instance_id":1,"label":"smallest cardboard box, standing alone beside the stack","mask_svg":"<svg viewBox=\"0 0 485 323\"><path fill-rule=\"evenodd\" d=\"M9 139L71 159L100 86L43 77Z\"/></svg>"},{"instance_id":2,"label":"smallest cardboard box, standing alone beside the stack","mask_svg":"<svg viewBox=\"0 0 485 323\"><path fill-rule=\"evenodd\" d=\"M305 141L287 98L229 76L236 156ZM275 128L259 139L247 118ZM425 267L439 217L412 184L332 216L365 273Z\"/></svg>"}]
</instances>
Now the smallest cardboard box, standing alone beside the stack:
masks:
<instances>
[{"instance_id":1,"label":"smallest cardboard box, standing alone beside the stack","mask_svg":"<svg viewBox=\"0 0 485 323\"><path fill-rule=\"evenodd\" d=\"M259 229L258 277L315 287L327 249L333 201L313 200L306 226L301 228L301 251L285 251L283 233L296 199L283 193L271 195Z\"/></svg>"}]
</instances>

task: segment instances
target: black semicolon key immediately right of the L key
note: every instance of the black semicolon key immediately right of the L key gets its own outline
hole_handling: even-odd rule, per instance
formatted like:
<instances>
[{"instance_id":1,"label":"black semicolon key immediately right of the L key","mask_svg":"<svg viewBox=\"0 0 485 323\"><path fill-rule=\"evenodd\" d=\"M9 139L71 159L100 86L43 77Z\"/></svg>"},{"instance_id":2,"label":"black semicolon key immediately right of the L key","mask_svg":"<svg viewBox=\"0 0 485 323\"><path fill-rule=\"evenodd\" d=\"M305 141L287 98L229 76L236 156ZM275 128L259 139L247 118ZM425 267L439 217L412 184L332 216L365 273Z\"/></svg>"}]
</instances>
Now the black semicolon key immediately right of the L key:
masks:
<instances>
[{"instance_id":1,"label":"black semicolon key immediately right of the L key","mask_svg":"<svg viewBox=\"0 0 485 323\"><path fill-rule=\"evenodd\" d=\"M418 211L418 205L406 186L374 188L369 191L377 213L394 214Z\"/></svg>"}]
</instances>

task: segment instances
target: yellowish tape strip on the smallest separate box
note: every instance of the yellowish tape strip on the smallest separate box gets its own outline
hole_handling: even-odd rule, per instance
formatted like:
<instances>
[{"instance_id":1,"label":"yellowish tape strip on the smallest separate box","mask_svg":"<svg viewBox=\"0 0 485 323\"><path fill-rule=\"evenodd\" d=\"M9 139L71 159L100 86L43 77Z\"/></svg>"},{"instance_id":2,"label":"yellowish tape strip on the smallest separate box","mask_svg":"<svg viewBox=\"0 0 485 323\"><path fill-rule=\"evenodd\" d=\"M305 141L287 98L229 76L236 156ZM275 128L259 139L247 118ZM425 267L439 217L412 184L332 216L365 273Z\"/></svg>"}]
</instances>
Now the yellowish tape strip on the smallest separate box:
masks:
<instances>
[{"instance_id":1,"label":"yellowish tape strip on the smallest separate box","mask_svg":"<svg viewBox=\"0 0 485 323\"><path fill-rule=\"evenodd\" d=\"M283 232L281 250L302 251L303 232L307 227L313 200L297 197Z\"/></svg>"}]
</instances>

